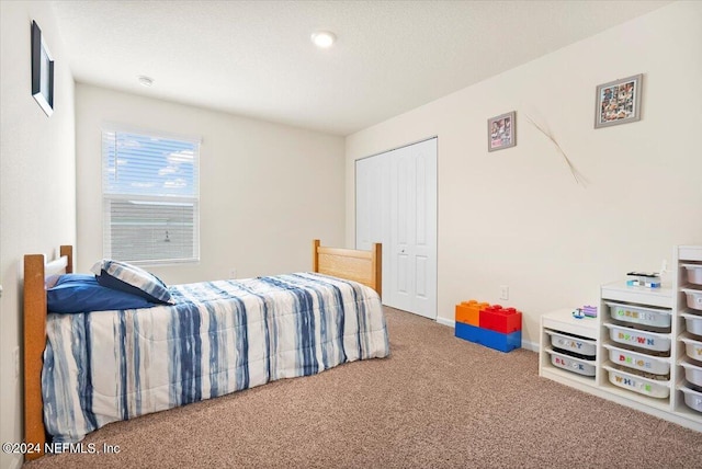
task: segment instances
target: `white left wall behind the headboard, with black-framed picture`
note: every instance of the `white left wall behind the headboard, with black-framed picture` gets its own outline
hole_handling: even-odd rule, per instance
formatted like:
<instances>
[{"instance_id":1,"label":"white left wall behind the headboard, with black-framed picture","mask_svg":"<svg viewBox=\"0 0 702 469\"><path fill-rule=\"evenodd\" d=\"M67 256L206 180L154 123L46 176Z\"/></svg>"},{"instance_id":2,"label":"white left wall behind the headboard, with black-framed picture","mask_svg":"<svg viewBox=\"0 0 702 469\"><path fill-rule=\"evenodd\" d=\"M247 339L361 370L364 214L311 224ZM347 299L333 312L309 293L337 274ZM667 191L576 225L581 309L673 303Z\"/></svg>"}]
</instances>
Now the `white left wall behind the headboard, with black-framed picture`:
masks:
<instances>
[{"instance_id":1,"label":"white left wall behind the headboard, with black-framed picture","mask_svg":"<svg viewBox=\"0 0 702 469\"><path fill-rule=\"evenodd\" d=\"M73 79L54 13L46 2L0 2L0 441L22 442L21 386L14 350L21 344L22 260L53 258L76 241ZM32 98L31 25L36 21L55 60L54 114ZM0 467L19 466L0 453Z\"/></svg>"}]
</instances>

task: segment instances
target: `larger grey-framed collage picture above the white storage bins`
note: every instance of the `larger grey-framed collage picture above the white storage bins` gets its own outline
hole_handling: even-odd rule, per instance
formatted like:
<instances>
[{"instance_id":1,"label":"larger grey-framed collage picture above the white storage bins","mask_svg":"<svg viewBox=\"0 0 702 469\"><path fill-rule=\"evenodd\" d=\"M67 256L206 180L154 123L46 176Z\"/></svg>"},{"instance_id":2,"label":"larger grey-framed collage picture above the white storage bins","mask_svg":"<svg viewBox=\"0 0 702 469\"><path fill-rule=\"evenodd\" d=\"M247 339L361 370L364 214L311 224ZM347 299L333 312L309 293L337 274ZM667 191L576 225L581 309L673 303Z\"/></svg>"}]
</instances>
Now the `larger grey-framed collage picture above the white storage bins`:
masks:
<instances>
[{"instance_id":1,"label":"larger grey-framed collage picture above the white storage bins","mask_svg":"<svg viewBox=\"0 0 702 469\"><path fill-rule=\"evenodd\" d=\"M643 77L639 73L597 87L595 128L610 127L641 119Z\"/></svg>"}]
</instances>

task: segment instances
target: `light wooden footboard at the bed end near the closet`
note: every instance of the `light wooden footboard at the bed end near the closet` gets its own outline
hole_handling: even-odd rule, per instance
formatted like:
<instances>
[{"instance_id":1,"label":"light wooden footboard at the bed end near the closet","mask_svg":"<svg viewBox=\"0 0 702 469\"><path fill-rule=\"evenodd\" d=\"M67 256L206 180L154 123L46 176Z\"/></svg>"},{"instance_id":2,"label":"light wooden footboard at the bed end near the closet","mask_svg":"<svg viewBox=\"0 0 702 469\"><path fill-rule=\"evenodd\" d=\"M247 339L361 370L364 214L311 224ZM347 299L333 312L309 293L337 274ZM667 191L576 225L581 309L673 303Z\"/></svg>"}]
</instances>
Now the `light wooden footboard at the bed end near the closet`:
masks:
<instances>
[{"instance_id":1,"label":"light wooden footboard at the bed end near the closet","mask_svg":"<svg viewBox=\"0 0 702 469\"><path fill-rule=\"evenodd\" d=\"M383 247L373 244L371 251L322 248L319 240L312 243L314 272L355 281L383 296Z\"/></svg>"}]
</instances>

